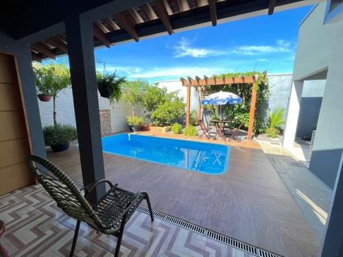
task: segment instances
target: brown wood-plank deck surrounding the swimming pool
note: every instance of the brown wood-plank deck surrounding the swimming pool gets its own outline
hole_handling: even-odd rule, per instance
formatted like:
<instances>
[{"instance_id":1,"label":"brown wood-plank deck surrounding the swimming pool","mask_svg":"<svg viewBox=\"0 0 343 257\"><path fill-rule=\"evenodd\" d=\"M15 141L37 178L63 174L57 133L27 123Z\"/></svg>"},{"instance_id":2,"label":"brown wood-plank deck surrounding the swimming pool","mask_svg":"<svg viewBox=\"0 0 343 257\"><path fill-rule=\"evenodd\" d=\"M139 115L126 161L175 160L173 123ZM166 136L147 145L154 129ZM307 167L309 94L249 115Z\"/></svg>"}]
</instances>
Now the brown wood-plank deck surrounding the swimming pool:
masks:
<instances>
[{"instance_id":1,"label":"brown wood-plank deck surrounding the swimming pool","mask_svg":"<svg viewBox=\"0 0 343 257\"><path fill-rule=\"evenodd\" d=\"M259 144L229 145L229 169L222 175L104 154L106 178L130 191L147 191L152 208L168 215L283 256L316 256L318 238ZM48 150L48 156L82 182L78 147Z\"/></svg>"}]
</instances>

